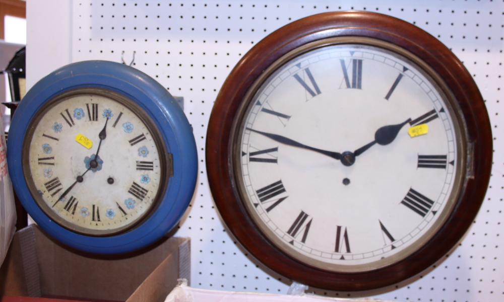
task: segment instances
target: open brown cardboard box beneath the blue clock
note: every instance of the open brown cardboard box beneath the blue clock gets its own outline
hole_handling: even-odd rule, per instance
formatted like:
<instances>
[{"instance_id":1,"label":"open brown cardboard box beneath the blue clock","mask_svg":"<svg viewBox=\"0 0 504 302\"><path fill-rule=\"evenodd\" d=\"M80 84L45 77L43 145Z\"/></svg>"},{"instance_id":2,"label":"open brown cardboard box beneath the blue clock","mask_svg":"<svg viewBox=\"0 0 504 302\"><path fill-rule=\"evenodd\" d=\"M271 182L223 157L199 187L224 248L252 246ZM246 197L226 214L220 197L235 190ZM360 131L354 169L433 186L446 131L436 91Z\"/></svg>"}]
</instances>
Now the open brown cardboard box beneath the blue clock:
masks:
<instances>
[{"instance_id":1,"label":"open brown cardboard box beneath the blue clock","mask_svg":"<svg viewBox=\"0 0 504 302\"><path fill-rule=\"evenodd\" d=\"M162 302L190 280L190 240L172 237L124 255L95 255L56 242L37 225L16 232L0 269L0 295Z\"/></svg>"}]
</instances>

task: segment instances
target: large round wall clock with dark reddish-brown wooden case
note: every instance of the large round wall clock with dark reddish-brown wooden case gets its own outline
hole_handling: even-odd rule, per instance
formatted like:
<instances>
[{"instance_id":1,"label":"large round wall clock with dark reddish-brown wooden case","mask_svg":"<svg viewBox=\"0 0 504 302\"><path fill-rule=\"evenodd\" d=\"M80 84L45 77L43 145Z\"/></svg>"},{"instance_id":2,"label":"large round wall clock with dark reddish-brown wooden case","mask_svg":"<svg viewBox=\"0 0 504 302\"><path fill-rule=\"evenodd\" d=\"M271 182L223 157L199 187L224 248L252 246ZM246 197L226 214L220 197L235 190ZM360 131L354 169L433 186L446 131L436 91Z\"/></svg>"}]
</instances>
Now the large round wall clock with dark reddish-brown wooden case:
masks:
<instances>
[{"instance_id":1,"label":"large round wall clock with dark reddish-brown wooden case","mask_svg":"<svg viewBox=\"0 0 504 302\"><path fill-rule=\"evenodd\" d=\"M395 284L444 257L484 198L481 95L423 30L369 12L288 24L235 66L207 136L223 220L254 257L303 284Z\"/></svg>"}]
</instances>

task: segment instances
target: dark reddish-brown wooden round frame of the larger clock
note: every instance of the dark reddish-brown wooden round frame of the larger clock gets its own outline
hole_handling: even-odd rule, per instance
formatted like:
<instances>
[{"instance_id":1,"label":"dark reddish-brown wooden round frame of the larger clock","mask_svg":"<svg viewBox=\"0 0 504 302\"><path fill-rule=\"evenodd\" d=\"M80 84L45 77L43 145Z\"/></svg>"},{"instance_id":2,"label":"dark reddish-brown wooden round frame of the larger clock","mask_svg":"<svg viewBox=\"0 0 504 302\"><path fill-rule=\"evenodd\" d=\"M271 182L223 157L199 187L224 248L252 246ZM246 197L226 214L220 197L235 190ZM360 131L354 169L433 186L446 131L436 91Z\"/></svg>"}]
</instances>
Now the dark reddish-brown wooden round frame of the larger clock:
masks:
<instances>
[{"instance_id":1,"label":"dark reddish-brown wooden round frame of the larger clock","mask_svg":"<svg viewBox=\"0 0 504 302\"><path fill-rule=\"evenodd\" d=\"M458 155L462 163L458 175L462 179L455 194L451 194L451 206L440 225L436 226L435 233L406 256L370 269L325 269L286 251L271 233L264 231L264 225L261 226L255 220L257 216L250 212L251 206L246 204L242 195L242 180L237 172L239 160L232 157L240 149L237 144L247 102L266 81L265 78L285 62L281 61L282 57L296 51L305 53L307 50L299 49L311 49L310 45L331 39L375 47L392 45L385 47L388 51L409 53L415 57L419 68L424 69L422 72L430 74L440 90L453 100L453 112L462 132L459 137L465 140ZM267 75L264 75L265 70ZM306 17L280 28L260 41L234 67L219 92L210 117L207 171L215 203L227 227L264 265L292 280L318 288L370 290L420 274L445 257L463 238L481 206L488 185L492 163L491 137L488 114L475 82L445 45L418 27L390 16L358 11L331 12ZM464 141L458 142L462 143Z\"/></svg>"}]
</instances>

